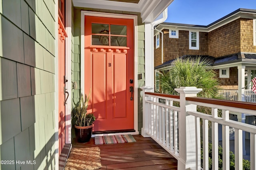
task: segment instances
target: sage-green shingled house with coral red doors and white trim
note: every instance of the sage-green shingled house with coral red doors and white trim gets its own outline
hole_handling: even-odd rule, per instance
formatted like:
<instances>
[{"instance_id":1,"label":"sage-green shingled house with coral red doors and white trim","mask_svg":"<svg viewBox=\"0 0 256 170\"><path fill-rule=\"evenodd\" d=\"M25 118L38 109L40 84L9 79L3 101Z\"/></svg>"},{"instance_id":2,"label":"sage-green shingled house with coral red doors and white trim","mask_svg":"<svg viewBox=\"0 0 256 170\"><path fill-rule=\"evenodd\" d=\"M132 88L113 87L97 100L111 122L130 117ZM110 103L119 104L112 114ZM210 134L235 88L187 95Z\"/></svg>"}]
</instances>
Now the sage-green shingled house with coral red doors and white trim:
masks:
<instances>
[{"instance_id":1,"label":"sage-green shingled house with coral red doors and white trim","mask_svg":"<svg viewBox=\"0 0 256 170\"><path fill-rule=\"evenodd\" d=\"M58 169L72 105L90 89L94 131L139 134L139 88L154 86L153 28L171 2L0 0L1 160L31 161L0 169ZM105 119L113 113L118 121Z\"/></svg>"}]
</instances>

